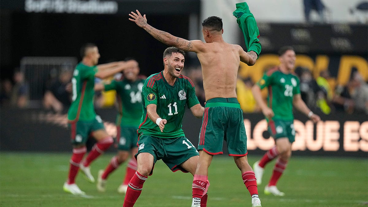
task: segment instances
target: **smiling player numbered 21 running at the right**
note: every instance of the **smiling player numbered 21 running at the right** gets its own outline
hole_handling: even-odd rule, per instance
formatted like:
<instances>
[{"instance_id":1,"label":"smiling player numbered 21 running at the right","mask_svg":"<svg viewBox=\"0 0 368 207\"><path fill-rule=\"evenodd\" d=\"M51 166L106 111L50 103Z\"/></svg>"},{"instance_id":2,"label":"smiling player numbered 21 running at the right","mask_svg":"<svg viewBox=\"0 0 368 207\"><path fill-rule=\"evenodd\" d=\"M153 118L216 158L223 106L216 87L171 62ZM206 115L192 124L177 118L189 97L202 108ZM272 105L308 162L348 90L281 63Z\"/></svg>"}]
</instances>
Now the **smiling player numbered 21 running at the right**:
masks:
<instances>
[{"instance_id":1,"label":"smiling player numbered 21 running at the right","mask_svg":"<svg viewBox=\"0 0 368 207\"><path fill-rule=\"evenodd\" d=\"M293 73L296 60L294 49L291 46L280 48L279 60L280 65L266 71L252 88L254 98L268 122L268 131L276 143L260 161L255 162L253 169L259 185L265 165L277 157L265 194L284 196L285 193L277 189L276 183L286 168L291 156L291 144L295 141L293 106L313 122L321 119L301 99L299 78ZM265 87L268 87L267 103L261 95L261 89Z\"/></svg>"}]
</instances>

